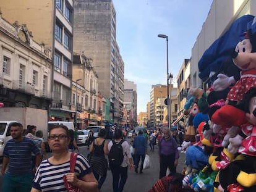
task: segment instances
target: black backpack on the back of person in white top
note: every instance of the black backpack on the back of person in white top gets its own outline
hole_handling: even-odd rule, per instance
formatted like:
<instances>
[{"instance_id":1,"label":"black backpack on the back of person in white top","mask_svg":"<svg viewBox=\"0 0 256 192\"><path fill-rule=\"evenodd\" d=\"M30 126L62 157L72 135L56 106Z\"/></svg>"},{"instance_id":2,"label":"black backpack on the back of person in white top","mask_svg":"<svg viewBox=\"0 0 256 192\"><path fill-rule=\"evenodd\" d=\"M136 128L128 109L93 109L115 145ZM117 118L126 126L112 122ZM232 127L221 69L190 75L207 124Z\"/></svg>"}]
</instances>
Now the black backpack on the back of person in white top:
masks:
<instances>
[{"instance_id":1,"label":"black backpack on the back of person in white top","mask_svg":"<svg viewBox=\"0 0 256 192\"><path fill-rule=\"evenodd\" d=\"M111 147L108 154L109 166L119 167L124 160L124 154L122 152L122 143L124 140L121 140L119 143L112 141L113 146Z\"/></svg>"}]
</instances>

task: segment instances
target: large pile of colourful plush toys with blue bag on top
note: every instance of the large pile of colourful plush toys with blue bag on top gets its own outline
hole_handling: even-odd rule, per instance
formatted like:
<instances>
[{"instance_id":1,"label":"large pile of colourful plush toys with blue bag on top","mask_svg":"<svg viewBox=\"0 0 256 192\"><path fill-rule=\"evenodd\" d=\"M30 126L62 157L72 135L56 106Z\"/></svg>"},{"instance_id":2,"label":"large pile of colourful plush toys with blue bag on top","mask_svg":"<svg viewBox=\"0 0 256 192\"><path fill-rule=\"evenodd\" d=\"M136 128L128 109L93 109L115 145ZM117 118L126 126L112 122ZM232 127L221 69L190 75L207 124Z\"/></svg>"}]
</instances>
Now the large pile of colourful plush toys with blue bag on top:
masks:
<instances>
[{"instance_id":1,"label":"large pile of colourful plush toys with blue bag on top","mask_svg":"<svg viewBox=\"0 0 256 192\"><path fill-rule=\"evenodd\" d=\"M186 150L183 184L193 191L256 191L256 18L234 21L198 68L203 90L190 88L184 114L186 141L200 141Z\"/></svg>"}]
</instances>

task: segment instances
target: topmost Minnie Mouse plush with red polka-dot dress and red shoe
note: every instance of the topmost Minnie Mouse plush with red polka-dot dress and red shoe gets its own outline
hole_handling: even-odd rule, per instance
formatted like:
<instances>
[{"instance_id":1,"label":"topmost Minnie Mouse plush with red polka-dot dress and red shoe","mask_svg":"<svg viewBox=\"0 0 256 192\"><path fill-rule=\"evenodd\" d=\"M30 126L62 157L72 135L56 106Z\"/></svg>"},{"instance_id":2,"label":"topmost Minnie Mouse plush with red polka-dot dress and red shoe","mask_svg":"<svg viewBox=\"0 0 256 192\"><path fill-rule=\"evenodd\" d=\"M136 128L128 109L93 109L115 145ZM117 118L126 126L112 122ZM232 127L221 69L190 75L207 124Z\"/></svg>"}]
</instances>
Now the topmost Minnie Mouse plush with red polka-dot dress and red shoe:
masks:
<instances>
[{"instance_id":1,"label":"topmost Minnie Mouse plush with red polka-dot dress and red shoe","mask_svg":"<svg viewBox=\"0 0 256 192\"><path fill-rule=\"evenodd\" d=\"M237 44L233 61L241 69L241 78L231 88L226 98L227 103L231 105L221 107L216 112L218 116L216 120L218 125L228 123L231 127L239 127L246 122L243 106L239 101L250 88L256 86L256 33L253 34L251 29L247 31L245 39Z\"/></svg>"}]
</instances>

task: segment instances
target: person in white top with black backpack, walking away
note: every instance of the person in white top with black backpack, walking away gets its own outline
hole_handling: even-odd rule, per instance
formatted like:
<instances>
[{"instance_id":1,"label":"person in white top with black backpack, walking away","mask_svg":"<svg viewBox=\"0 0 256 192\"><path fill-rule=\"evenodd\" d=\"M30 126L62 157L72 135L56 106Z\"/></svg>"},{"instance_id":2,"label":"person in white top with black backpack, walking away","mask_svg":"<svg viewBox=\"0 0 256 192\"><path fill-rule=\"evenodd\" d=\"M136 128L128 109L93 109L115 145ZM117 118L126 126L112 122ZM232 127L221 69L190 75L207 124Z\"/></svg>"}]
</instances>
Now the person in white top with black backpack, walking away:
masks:
<instances>
[{"instance_id":1,"label":"person in white top with black backpack, walking away","mask_svg":"<svg viewBox=\"0 0 256 192\"><path fill-rule=\"evenodd\" d=\"M122 129L118 128L114 131L114 140L109 141L108 151L109 169L113 175L113 191L123 191L128 177L128 164L132 170L134 163L132 162L129 143L122 140Z\"/></svg>"}]
</instances>

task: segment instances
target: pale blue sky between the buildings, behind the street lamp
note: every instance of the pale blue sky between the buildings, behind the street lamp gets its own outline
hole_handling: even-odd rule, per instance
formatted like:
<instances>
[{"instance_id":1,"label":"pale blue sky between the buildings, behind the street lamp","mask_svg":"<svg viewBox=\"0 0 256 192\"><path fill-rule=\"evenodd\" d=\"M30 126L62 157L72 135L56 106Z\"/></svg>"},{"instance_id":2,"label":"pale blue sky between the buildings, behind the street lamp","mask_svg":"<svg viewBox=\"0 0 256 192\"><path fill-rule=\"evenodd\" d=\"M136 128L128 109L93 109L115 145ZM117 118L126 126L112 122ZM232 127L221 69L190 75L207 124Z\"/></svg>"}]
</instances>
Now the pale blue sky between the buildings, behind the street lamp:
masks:
<instances>
[{"instance_id":1,"label":"pale blue sky between the buildings, behind the street lamp","mask_svg":"<svg viewBox=\"0 0 256 192\"><path fill-rule=\"evenodd\" d=\"M166 85L168 36L169 73L176 77L207 19L213 0L113 0L116 40L124 61L124 78L137 85L137 113L147 112L151 86Z\"/></svg>"}]
</instances>

